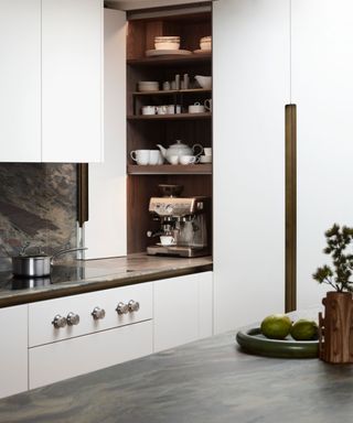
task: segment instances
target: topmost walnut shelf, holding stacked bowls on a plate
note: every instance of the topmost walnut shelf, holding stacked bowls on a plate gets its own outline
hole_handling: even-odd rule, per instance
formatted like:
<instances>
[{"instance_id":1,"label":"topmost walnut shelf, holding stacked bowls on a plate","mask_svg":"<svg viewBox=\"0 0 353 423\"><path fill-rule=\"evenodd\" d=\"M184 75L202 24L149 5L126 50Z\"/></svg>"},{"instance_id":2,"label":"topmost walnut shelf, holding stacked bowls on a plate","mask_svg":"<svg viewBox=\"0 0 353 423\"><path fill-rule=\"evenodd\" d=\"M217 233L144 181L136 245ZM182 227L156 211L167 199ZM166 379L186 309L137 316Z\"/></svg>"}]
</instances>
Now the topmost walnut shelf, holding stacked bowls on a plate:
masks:
<instances>
[{"instance_id":1,"label":"topmost walnut shelf, holding stacked bowls on a plate","mask_svg":"<svg viewBox=\"0 0 353 423\"><path fill-rule=\"evenodd\" d=\"M185 56L168 55L154 57L129 58L128 66L178 66L185 64L211 63L212 53L188 54Z\"/></svg>"}]
</instances>

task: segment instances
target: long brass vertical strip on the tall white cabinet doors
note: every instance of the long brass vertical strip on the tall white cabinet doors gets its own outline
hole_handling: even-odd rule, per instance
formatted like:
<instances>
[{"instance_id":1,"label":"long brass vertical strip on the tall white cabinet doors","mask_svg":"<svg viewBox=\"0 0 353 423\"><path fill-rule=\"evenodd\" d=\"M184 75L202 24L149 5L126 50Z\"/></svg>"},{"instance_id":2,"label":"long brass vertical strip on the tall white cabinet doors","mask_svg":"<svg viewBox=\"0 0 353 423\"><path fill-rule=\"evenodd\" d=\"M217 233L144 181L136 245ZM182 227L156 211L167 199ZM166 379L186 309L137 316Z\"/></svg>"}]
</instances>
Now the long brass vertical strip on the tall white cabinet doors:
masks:
<instances>
[{"instance_id":1,"label":"long brass vertical strip on the tall white cabinet doors","mask_svg":"<svg viewBox=\"0 0 353 423\"><path fill-rule=\"evenodd\" d=\"M286 313L297 308L297 106L286 106Z\"/></svg>"}]
</instances>

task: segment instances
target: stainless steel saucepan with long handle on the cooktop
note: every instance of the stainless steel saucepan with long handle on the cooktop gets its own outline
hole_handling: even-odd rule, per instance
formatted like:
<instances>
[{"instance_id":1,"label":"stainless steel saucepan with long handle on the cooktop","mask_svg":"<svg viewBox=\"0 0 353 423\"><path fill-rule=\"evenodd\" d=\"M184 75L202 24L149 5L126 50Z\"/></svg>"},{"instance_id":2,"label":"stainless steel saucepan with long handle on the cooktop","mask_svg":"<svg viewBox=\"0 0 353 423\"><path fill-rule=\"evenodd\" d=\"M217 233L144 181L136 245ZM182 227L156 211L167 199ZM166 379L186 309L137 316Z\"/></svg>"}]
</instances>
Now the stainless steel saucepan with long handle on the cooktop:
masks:
<instances>
[{"instance_id":1,"label":"stainless steel saucepan with long handle on the cooktop","mask_svg":"<svg viewBox=\"0 0 353 423\"><path fill-rule=\"evenodd\" d=\"M54 258L66 252L87 250L87 248L68 248L55 252L53 256L47 256L41 250L38 254L28 254L25 249L28 245L22 248L19 256L12 257L12 273L21 278L41 278L51 274Z\"/></svg>"}]
</instances>

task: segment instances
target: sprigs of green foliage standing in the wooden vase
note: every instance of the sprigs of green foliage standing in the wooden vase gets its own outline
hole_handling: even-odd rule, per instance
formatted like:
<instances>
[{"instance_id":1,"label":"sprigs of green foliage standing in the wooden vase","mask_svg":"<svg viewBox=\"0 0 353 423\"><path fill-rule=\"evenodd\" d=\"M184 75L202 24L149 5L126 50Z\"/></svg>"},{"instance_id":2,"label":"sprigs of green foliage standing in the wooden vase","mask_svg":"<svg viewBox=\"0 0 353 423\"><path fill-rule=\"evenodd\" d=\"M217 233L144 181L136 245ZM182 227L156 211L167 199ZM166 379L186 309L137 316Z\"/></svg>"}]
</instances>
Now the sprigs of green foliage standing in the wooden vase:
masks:
<instances>
[{"instance_id":1,"label":"sprigs of green foliage standing in the wooden vase","mask_svg":"<svg viewBox=\"0 0 353 423\"><path fill-rule=\"evenodd\" d=\"M353 292L353 281L350 280L353 271L353 254L345 253L345 249L353 240L353 228L334 224L324 232L328 247L325 254L331 254L333 269L324 264L318 268L312 278L319 283L327 283L338 292Z\"/></svg>"}]
</instances>

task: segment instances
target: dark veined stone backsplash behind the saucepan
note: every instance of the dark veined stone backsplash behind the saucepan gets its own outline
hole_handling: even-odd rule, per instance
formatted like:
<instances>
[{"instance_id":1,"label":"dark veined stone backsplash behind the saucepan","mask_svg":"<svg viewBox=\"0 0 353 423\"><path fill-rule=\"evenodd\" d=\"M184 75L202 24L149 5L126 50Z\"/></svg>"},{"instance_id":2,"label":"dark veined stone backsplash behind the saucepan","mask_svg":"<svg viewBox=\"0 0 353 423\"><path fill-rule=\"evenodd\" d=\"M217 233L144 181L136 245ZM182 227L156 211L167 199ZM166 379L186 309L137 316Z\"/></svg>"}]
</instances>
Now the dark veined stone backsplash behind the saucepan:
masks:
<instances>
[{"instance_id":1,"label":"dark veined stone backsplash behind the saucepan","mask_svg":"<svg viewBox=\"0 0 353 423\"><path fill-rule=\"evenodd\" d=\"M76 247L76 164L0 163L0 270L26 241L46 253Z\"/></svg>"}]
</instances>

